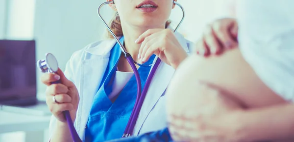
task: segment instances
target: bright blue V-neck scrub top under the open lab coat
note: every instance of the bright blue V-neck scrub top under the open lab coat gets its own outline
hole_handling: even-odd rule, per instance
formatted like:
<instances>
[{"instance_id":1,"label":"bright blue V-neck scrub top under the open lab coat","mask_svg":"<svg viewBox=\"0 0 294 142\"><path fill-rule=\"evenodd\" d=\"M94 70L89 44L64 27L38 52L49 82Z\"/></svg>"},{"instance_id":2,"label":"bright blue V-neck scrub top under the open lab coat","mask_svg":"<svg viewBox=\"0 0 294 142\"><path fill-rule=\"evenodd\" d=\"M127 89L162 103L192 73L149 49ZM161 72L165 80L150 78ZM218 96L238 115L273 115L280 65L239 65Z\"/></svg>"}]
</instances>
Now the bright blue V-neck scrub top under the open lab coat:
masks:
<instances>
[{"instance_id":1,"label":"bright blue V-neck scrub top under the open lab coat","mask_svg":"<svg viewBox=\"0 0 294 142\"><path fill-rule=\"evenodd\" d=\"M124 38L121 38L120 41L123 43ZM137 82L133 75L114 103L108 98L108 95L112 91L117 64L121 54L120 45L117 43L111 50L109 63L102 79L103 83L99 86L98 92L93 100L85 131L85 142L105 142L123 136L124 129L136 101ZM152 63L154 58L155 55L152 55L146 64ZM150 68L150 66L144 66L138 69L142 90Z\"/></svg>"}]
</instances>

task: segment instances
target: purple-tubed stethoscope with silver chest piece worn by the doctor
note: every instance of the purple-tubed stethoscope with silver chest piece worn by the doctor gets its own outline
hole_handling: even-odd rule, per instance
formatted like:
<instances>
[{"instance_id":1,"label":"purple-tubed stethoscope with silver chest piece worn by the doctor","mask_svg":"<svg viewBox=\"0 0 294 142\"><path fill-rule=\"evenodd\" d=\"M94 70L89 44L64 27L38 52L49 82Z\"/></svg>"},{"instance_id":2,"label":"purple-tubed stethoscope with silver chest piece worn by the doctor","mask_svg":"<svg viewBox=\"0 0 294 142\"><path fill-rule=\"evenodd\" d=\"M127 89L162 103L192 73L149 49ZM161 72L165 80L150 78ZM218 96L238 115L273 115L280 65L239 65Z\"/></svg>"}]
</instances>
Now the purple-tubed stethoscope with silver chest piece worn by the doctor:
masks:
<instances>
[{"instance_id":1,"label":"purple-tubed stethoscope with silver chest piece worn by the doctor","mask_svg":"<svg viewBox=\"0 0 294 142\"><path fill-rule=\"evenodd\" d=\"M131 55L124 48L121 41L113 33L113 31L110 29L110 27L107 25L107 23L105 22L105 20L102 18L101 14L100 14L101 7L106 5L106 4L111 4L111 3L114 4L114 1L107 1L107 2L104 2L104 3L100 4L100 6L98 7L98 16L103 21L104 25L106 26L108 31L112 34L114 39L120 44L121 50L122 50L122 52L124 54L124 58L129 62L129 64L131 65L131 68L134 71L134 75L135 75L135 78L136 78L136 81L137 81L137 86L138 86L136 102L135 102L134 108L132 110L130 119L129 119L127 125L126 125L125 130L124 130L123 136L122 136L122 137L130 137L132 135L132 133L133 133L135 124L137 122L137 119L138 119L141 107L143 105L143 102L145 100L147 90L149 88L151 80L152 80L152 78L153 78L153 76L155 74L155 71L158 68L161 60L159 58L157 58L157 60L155 61L154 64L153 63L152 64L140 64L140 63L133 60ZM176 26L176 28L173 31L173 32L176 32L177 29L179 28L179 26L181 25L181 23L183 22L184 18L185 18L185 11L184 11L183 7L179 3L177 3L176 1L173 1L173 3L178 5L181 8L182 12L183 12L182 19L180 20L179 24ZM147 78L147 81L145 83L145 86L143 88L142 94L141 94L141 88L142 88L141 80L140 80L138 69L137 69L135 64L137 64L139 66L151 66L151 65L153 65L153 68L151 69L151 71L149 73L149 76ZM58 70L58 62L57 62L56 58L51 53L47 53L45 55L44 60L37 61L37 66L41 70L41 72L43 72L43 73L57 73L57 70ZM60 81L52 82L52 84L54 84L54 83L60 83ZM76 132L74 126L73 126L73 122L72 122L72 119L71 119L71 116L70 116L70 112L69 111L64 111L63 113L64 113L65 118L67 120L67 123L69 125L69 129L70 129L73 141L74 142L82 142L82 140L79 138L79 136L78 136L78 134L77 134L77 132Z\"/></svg>"}]
</instances>

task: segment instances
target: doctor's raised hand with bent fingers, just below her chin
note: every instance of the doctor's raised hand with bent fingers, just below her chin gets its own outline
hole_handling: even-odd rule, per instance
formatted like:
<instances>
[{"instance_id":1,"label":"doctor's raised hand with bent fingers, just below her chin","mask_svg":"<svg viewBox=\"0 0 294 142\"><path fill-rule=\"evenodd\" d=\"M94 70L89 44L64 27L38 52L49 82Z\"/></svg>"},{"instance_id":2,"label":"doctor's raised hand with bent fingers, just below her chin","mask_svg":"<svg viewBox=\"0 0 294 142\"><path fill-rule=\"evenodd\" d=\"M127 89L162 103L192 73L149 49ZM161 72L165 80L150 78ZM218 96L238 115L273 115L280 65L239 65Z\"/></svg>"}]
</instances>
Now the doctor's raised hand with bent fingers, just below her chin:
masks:
<instances>
[{"instance_id":1,"label":"doctor's raised hand with bent fingers, just below her chin","mask_svg":"<svg viewBox=\"0 0 294 142\"><path fill-rule=\"evenodd\" d=\"M176 69L188 56L170 29L149 29L135 42L141 44L138 59L142 63L155 54Z\"/></svg>"}]
</instances>

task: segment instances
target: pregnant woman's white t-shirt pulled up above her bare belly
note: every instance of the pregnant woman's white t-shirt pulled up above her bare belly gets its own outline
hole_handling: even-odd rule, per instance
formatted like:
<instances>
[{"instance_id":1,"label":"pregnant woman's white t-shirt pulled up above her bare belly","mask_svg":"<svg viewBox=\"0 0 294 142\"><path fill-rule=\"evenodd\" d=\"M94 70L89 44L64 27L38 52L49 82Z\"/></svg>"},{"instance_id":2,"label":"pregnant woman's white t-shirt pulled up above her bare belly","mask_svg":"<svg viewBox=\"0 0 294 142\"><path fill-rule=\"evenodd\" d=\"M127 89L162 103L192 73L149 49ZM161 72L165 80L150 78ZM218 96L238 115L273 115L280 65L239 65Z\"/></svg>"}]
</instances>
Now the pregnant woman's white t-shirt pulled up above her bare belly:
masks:
<instances>
[{"instance_id":1,"label":"pregnant woman's white t-shirt pulled up above her bare belly","mask_svg":"<svg viewBox=\"0 0 294 142\"><path fill-rule=\"evenodd\" d=\"M238 0L239 45L260 79L294 101L294 0Z\"/></svg>"}]
</instances>

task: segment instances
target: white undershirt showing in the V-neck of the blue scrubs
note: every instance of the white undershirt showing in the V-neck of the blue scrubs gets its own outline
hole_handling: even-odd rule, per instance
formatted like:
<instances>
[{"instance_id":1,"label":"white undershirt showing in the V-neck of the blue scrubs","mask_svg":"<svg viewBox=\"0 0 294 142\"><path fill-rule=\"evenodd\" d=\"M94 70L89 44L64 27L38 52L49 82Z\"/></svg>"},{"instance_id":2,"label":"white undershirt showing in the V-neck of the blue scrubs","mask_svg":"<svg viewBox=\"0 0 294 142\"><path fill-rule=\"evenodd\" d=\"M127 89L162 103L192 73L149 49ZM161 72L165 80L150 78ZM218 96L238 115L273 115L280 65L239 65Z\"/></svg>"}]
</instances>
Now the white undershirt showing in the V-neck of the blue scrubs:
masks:
<instances>
[{"instance_id":1,"label":"white undershirt showing in the V-neck of the blue scrubs","mask_svg":"<svg viewBox=\"0 0 294 142\"><path fill-rule=\"evenodd\" d=\"M120 92L123 90L123 87L126 85L126 83L132 78L134 73L132 72L120 72L116 71L113 86L112 86L112 92L109 94L108 98L114 102Z\"/></svg>"}]
</instances>

